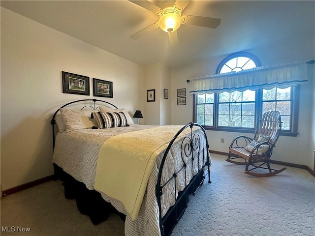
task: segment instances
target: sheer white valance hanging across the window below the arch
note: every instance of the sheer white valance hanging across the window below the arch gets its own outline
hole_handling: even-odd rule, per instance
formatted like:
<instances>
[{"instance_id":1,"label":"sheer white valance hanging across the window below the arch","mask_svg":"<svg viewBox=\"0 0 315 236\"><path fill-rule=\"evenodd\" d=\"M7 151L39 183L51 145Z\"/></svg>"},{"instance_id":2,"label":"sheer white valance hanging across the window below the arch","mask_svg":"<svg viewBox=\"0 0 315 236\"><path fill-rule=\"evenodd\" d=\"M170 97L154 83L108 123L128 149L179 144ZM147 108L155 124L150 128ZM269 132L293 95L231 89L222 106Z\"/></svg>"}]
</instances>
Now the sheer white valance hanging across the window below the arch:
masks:
<instances>
[{"instance_id":1,"label":"sheer white valance hanging across the window below the arch","mask_svg":"<svg viewBox=\"0 0 315 236\"><path fill-rule=\"evenodd\" d=\"M308 81L306 61L275 66L261 66L241 72L203 76L189 79L189 92L245 91L247 89L287 88Z\"/></svg>"}]
</instances>

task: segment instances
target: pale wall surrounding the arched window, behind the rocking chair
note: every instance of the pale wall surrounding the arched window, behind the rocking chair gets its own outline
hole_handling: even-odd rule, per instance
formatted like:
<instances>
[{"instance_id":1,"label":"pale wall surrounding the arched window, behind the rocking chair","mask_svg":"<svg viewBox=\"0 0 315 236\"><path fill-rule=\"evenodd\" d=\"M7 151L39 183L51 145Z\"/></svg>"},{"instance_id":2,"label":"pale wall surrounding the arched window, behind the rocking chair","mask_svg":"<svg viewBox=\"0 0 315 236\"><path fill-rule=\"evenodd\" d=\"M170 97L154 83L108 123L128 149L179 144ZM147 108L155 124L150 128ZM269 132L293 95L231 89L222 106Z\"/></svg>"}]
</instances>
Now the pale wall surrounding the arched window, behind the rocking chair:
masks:
<instances>
[{"instance_id":1,"label":"pale wall surrounding the arched window, behind the rocking chair","mask_svg":"<svg viewBox=\"0 0 315 236\"><path fill-rule=\"evenodd\" d=\"M259 47L246 50L254 54L260 59L262 65L274 65L278 63L286 63L296 60L311 60L315 57L315 39L314 34L299 35L295 39L282 42L274 42L270 45L260 45ZM245 51L245 49L244 49ZM231 52L235 53L235 52ZM186 80L193 77L215 74L217 66L227 55L197 61L190 65L173 68L171 71L171 87L172 87L172 105L171 105L171 124L187 124L192 121L192 96L187 95L187 105L177 106L176 89L186 88L189 85ZM311 67L311 68L314 68ZM280 136L277 147L274 149L272 158L278 161L307 165L311 169L314 168L314 73L309 78L310 81L301 85L299 122L297 137ZM237 135L240 133L207 131L210 149L222 152L228 152L228 147ZM249 134L247 134L249 135ZM221 144L221 138L224 144ZM313 142L312 142L313 140Z\"/></svg>"}]
</instances>

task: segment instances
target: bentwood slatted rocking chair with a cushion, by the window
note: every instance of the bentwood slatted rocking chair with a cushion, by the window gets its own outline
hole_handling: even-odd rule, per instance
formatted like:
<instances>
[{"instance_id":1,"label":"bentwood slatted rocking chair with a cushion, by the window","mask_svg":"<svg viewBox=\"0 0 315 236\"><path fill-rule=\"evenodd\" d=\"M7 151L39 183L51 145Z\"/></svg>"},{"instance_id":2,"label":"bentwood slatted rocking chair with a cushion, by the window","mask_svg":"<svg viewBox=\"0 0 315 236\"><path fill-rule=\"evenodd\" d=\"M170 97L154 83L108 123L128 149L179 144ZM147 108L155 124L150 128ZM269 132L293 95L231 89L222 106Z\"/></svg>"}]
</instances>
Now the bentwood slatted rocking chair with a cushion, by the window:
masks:
<instances>
[{"instance_id":1,"label":"bentwood slatted rocking chair with a cushion, by the window","mask_svg":"<svg viewBox=\"0 0 315 236\"><path fill-rule=\"evenodd\" d=\"M258 120L254 138L241 135L236 137L230 147L226 161L246 165L245 173L255 177L274 176L284 171L270 168L272 149L279 138L281 131L281 117L278 111L270 111L263 114ZM243 161L236 161L236 159ZM245 161L244 161L245 160ZM249 166L253 166L249 170ZM252 172L257 168L267 169L269 173Z\"/></svg>"}]
</instances>

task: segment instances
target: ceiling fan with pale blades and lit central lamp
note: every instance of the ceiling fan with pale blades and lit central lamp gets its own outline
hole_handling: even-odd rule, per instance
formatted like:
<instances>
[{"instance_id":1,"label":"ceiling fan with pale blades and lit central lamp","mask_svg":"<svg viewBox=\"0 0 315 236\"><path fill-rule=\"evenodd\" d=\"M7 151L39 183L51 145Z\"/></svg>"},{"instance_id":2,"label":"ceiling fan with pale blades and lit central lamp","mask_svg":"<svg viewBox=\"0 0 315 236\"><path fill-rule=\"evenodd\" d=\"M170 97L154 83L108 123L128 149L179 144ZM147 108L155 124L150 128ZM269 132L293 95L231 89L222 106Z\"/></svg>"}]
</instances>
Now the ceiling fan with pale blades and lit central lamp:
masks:
<instances>
[{"instance_id":1,"label":"ceiling fan with pale blades and lit central lamp","mask_svg":"<svg viewBox=\"0 0 315 236\"><path fill-rule=\"evenodd\" d=\"M157 22L131 35L130 38L132 39L137 39L154 29L160 28L168 33L170 44L176 45L178 42L176 30L181 24L215 29L221 23L221 19L219 18L182 15L183 10L189 4L190 0L176 0L175 3L174 1L159 1L163 3L161 7L148 0L129 1L152 11L159 16Z\"/></svg>"}]
</instances>

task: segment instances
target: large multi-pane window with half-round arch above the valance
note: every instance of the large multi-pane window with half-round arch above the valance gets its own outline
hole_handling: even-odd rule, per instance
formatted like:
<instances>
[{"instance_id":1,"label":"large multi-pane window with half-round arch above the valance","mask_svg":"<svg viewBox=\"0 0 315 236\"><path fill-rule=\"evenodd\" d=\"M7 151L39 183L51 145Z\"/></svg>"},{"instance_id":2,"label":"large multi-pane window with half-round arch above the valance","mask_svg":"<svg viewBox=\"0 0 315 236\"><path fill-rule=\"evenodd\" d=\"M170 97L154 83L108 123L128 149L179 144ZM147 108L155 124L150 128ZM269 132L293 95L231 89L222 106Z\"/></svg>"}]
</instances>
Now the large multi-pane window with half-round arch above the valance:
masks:
<instances>
[{"instance_id":1,"label":"large multi-pane window with half-round arch above the valance","mask_svg":"<svg viewBox=\"0 0 315 236\"><path fill-rule=\"evenodd\" d=\"M259 66L254 55L236 53L222 60L217 74ZM258 118L273 110L281 114L282 135L297 135L298 86L238 90L194 94L194 121L209 130L254 132Z\"/></svg>"}]
</instances>

